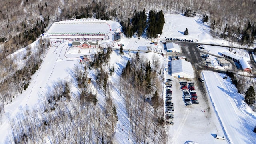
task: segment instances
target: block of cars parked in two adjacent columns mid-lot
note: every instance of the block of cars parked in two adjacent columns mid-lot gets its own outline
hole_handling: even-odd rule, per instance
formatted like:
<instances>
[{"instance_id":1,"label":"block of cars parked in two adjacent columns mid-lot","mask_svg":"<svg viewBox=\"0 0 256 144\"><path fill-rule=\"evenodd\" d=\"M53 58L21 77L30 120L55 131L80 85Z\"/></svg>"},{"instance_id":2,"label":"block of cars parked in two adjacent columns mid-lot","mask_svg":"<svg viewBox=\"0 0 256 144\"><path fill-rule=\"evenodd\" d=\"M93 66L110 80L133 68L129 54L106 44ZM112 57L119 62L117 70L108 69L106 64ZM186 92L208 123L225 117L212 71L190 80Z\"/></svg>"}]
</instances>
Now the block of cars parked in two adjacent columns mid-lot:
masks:
<instances>
[{"instance_id":1,"label":"block of cars parked in two adjacent columns mid-lot","mask_svg":"<svg viewBox=\"0 0 256 144\"><path fill-rule=\"evenodd\" d=\"M180 82L180 85L181 85L183 98L186 106L191 106L192 104L199 104L197 100L197 94L196 94L194 83Z\"/></svg>"}]
</instances>

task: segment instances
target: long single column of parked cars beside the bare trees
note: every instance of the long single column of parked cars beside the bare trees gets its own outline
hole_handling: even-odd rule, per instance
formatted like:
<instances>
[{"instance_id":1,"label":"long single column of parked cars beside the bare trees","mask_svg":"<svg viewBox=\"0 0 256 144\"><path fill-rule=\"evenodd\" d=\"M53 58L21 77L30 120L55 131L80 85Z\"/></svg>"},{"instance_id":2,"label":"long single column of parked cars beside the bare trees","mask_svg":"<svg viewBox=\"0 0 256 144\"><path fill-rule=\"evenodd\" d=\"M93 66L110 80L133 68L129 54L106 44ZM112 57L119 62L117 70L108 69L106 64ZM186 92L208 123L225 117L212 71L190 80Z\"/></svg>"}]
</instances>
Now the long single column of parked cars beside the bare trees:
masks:
<instances>
[{"instance_id":1,"label":"long single column of parked cars beside the bare trees","mask_svg":"<svg viewBox=\"0 0 256 144\"><path fill-rule=\"evenodd\" d=\"M174 105L172 103L172 79L167 79L166 85L166 124L173 125Z\"/></svg>"}]
</instances>

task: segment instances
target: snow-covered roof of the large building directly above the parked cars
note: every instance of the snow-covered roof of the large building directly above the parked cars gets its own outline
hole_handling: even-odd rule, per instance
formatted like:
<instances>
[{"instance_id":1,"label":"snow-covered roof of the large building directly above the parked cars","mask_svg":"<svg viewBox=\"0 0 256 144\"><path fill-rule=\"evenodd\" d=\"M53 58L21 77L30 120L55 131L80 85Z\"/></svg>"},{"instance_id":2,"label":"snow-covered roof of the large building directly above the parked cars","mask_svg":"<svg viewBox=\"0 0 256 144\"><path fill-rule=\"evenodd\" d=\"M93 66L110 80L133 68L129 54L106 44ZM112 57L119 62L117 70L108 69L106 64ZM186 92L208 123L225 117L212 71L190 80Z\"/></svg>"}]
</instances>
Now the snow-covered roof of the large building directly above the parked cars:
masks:
<instances>
[{"instance_id":1,"label":"snow-covered roof of the large building directly above the parked cars","mask_svg":"<svg viewBox=\"0 0 256 144\"><path fill-rule=\"evenodd\" d=\"M172 74L184 72L194 77L194 70L190 62L185 60L172 60Z\"/></svg>"}]
</instances>

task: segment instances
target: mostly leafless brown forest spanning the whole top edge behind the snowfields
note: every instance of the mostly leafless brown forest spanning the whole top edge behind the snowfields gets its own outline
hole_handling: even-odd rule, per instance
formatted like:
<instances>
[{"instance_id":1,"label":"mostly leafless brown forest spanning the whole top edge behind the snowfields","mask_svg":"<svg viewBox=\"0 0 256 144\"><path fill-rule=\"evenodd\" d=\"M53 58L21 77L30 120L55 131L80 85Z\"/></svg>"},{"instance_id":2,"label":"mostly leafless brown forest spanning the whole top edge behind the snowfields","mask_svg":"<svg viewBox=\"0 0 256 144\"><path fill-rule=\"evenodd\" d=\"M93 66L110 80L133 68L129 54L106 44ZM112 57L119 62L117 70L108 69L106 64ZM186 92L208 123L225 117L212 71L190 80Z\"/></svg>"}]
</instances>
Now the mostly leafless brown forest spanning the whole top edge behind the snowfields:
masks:
<instances>
[{"instance_id":1,"label":"mostly leafless brown forest spanning the whole top edge behind the snowfields","mask_svg":"<svg viewBox=\"0 0 256 144\"><path fill-rule=\"evenodd\" d=\"M162 10L164 14L186 13L184 15L197 14L200 17L208 15L212 25L211 34L214 37L222 37L227 40L239 40L241 43L252 43L255 37L255 2L252 0L238 1L205 1L200 0L166 0L164 2L150 0L146 2L124 1L124 0L94 0L65 1L58 3L50 0L25 2L8 0L1 3L0 26L1 41L22 32L22 23L28 26L26 31L32 29L36 22L47 18L51 22L67 18L91 18L115 19L126 21L132 20L134 12L148 10ZM184 9L186 8L186 9ZM193 10L193 12L192 12ZM61 13L59 13L61 11ZM49 15L51 14L51 15ZM129 21L130 22L130 21ZM248 28L250 22L251 28ZM215 24L214 24L215 23ZM126 23L127 24L127 23ZM47 26L47 25L46 25ZM139 31L140 33L140 31ZM126 36L129 36L127 34Z\"/></svg>"}]
</instances>

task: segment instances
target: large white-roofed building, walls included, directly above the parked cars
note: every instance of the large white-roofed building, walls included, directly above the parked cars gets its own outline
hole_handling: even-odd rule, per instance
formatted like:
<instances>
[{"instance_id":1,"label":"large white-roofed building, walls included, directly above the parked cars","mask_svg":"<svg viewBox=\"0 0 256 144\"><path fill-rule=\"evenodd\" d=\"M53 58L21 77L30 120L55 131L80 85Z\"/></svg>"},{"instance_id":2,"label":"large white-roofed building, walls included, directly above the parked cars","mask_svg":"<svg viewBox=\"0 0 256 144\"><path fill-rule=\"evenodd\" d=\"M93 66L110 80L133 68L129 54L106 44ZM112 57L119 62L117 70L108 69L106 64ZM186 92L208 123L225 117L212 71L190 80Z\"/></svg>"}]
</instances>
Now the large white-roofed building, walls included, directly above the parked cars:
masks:
<instances>
[{"instance_id":1,"label":"large white-roofed building, walls included, directly above the parked cars","mask_svg":"<svg viewBox=\"0 0 256 144\"><path fill-rule=\"evenodd\" d=\"M172 60L172 76L178 78L194 78L194 70L190 62Z\"/></svg>"}]
</instances>

